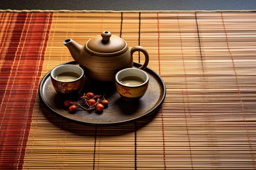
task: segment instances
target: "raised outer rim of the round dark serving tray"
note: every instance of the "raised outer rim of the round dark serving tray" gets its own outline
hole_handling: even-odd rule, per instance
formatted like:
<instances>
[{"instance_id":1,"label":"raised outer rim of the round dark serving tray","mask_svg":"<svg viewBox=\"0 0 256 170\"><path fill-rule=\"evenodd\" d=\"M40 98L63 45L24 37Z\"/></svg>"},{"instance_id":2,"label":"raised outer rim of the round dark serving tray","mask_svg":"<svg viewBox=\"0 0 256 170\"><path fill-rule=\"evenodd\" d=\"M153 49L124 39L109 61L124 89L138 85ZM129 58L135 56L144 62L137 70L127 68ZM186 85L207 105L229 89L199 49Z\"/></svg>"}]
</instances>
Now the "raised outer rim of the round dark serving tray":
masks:
<instances>
[{"instance_id":1,"label":"raised outer rim of the round dark serving tray","mask_svg":"<svg viewBox=\"0 0 256 170\"><path fill-rule=\"evenodd\" d=\"M60 65L64 65L64 64L77 64L74 60L73 61L69 61L69 62L65 62L65 63L62 63ZM139 66L142 66L142 64L140 63L137 63L137 62L133 62L133 66L135 67L139 67ZM45 81L47 80L47 78L49 77L49 74L51 73L51 71L49 71L48 73L46 73L44 75L44 77L41 79L40 81L40 84L38 86L38 95L39 95L39 98L40 98L40 101L43 102L44 106L49 110L51 111L52 113L60 116L61 118L63 119L66 119L67 121L72 121L74 123L77 123L77 124L83 124L83 125L89 125L89 126L118 126L118 125L121 125L121 124L128 124L128 123L132 123L134 121L138 121L144 117L147 117L153 113L155 113L159 107L162 105L162 103L164 102L164 99L165 99L165 96L166 96L166 86L164 84L164 81L162 79L162 77L160 77L159 74L157 74L155 71L153 71L151 68L149 67L146 67L144 69L144 71L147 70L146 72L153 74L155 75L154 77L158 79L159 81L159 84L160 86L162 86L162 97L159 98L159 102L158 104L153 107L151 110L149 110L148 112L144 113L143 115L140 115L138 117L135 117L135 118L132 118L132 119L128 119L128 120L124 120L124 121L119 121L119 122L106 122L106 123L92 123L92 122L87 122L87 121L79 121L79 120L76 120L76 119L72 119L70 117L66 117L65 115L62 115L61 113L58 113L56 110L54 110L52 107L50 107L47 102L45 102L45 100L43 99L43 85L45 83Z\"/></svg>"}]
</instances>

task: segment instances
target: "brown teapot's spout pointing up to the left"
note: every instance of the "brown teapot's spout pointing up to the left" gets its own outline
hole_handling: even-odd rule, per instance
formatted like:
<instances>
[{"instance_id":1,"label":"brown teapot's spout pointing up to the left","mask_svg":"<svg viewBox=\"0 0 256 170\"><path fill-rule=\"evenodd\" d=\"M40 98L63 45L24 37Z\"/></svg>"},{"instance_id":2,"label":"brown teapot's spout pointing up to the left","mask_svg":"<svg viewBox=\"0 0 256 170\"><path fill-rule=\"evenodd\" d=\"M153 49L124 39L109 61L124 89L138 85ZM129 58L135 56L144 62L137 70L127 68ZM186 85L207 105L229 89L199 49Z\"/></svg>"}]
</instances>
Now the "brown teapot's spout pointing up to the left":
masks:
<instances>
[{"instance_id":1,"label":"brown teapot's spout pointing up to the left","mask_svg":"<svg viewBox=\"0 0 256 170\"><path fill-rule=\"evenodd\" d=\"M70 54L74 58L74 60L79 63L79 55L83 49L83 46L75 42L74 40L68 38L63 41L63 44L67 46L70 51Z\"/></svg>"}]
</instances>

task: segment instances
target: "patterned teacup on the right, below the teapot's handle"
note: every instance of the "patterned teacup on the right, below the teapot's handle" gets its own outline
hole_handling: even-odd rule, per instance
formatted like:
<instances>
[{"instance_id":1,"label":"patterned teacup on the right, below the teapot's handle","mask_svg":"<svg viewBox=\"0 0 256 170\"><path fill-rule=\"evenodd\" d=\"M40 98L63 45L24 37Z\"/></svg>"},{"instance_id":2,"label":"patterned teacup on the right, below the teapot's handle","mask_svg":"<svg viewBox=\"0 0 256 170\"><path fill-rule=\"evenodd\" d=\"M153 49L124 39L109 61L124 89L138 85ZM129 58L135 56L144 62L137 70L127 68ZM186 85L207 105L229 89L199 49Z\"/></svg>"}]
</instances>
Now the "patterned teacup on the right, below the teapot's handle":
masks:
<instances>
[{"instance_id":1,"label":"patterned teacup on the right, below the teapot's handle","mask_svg":"<svg viewBox=\"0 0 256 170\"><path fill-rule=\"evenodd\" d=\"M126 101L135 101L143 97L148 82L148 74L138 68L126 68L115 75L117 91Z\"/></svg>"}]
</instances>

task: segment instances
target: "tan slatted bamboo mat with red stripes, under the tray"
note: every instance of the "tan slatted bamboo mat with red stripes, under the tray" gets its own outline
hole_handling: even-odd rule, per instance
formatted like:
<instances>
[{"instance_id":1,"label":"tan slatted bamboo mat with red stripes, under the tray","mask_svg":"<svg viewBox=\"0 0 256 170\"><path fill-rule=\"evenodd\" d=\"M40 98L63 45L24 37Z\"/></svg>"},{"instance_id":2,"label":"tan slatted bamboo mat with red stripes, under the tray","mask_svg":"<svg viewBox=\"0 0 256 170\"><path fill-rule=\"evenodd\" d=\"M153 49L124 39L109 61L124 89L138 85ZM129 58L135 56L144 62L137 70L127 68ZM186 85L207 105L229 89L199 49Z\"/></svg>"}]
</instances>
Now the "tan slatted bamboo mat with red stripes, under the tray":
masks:
<instances>
[{"instance_id":1,"label":"tan slatted bamboo mat with red stripes, under the tray","mask_svg":"<svg viewBox=\"0 0 256 170\"><path fill-rule=\"evenodd\" d=\"M57 117L40 80L73 60L64 39L105 30L148 50L164 103L117 127ZM1 12L0 39L0 169L256 169L256 13Z\"/></svg>"}]
</instances>

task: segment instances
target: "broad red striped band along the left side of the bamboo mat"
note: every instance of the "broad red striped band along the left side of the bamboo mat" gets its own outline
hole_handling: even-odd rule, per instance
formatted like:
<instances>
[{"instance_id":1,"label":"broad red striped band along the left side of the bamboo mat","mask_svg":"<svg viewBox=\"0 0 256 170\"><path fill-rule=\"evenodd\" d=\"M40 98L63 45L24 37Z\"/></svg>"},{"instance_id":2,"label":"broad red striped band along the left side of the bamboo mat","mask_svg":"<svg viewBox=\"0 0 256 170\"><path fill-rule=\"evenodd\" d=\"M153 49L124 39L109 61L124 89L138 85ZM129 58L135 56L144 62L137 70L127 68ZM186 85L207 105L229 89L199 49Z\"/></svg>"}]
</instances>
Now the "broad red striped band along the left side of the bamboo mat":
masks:
<instances>
[{"instance_id":1,"label":"broad red striped band along the left side of the bamboo mat","mask_svg":"<svg viewBox=\"0 0 256 170\"><path fill-rule=\"evenodd\" d=\"M19 13L8 51L0 56L2 168L22 169L51 22L52 13Z\"/></svg>"}]
</instances>

